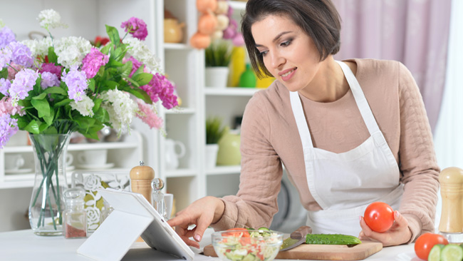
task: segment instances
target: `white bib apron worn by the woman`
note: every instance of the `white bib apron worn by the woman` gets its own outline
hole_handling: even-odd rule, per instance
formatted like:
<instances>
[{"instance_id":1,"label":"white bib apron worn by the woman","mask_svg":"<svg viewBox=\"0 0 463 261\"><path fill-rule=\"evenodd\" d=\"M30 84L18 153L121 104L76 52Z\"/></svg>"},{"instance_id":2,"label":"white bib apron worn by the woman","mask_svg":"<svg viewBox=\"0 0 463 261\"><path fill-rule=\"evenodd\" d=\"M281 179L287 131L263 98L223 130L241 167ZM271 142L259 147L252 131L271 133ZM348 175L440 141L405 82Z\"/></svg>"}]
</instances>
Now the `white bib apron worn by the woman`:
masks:
<instances>
[{"instance_id":1,"label":"white bib apron worn by the woman","mask_svg":"<svg viewBox=\"0 0 463 261\"><path fill-rule=\"evenodd\" d=\"M291 107L302 141L308 189L323 210L308 211L307 225L313 233L358 236L359 216L374 201L398 210L402 198L400 170L370 106L350 68L336 61L355 98L370 138L353 150L333 153L313 148L311 133L298 92L290 92Z\"/></svg>"}]
</instances>

